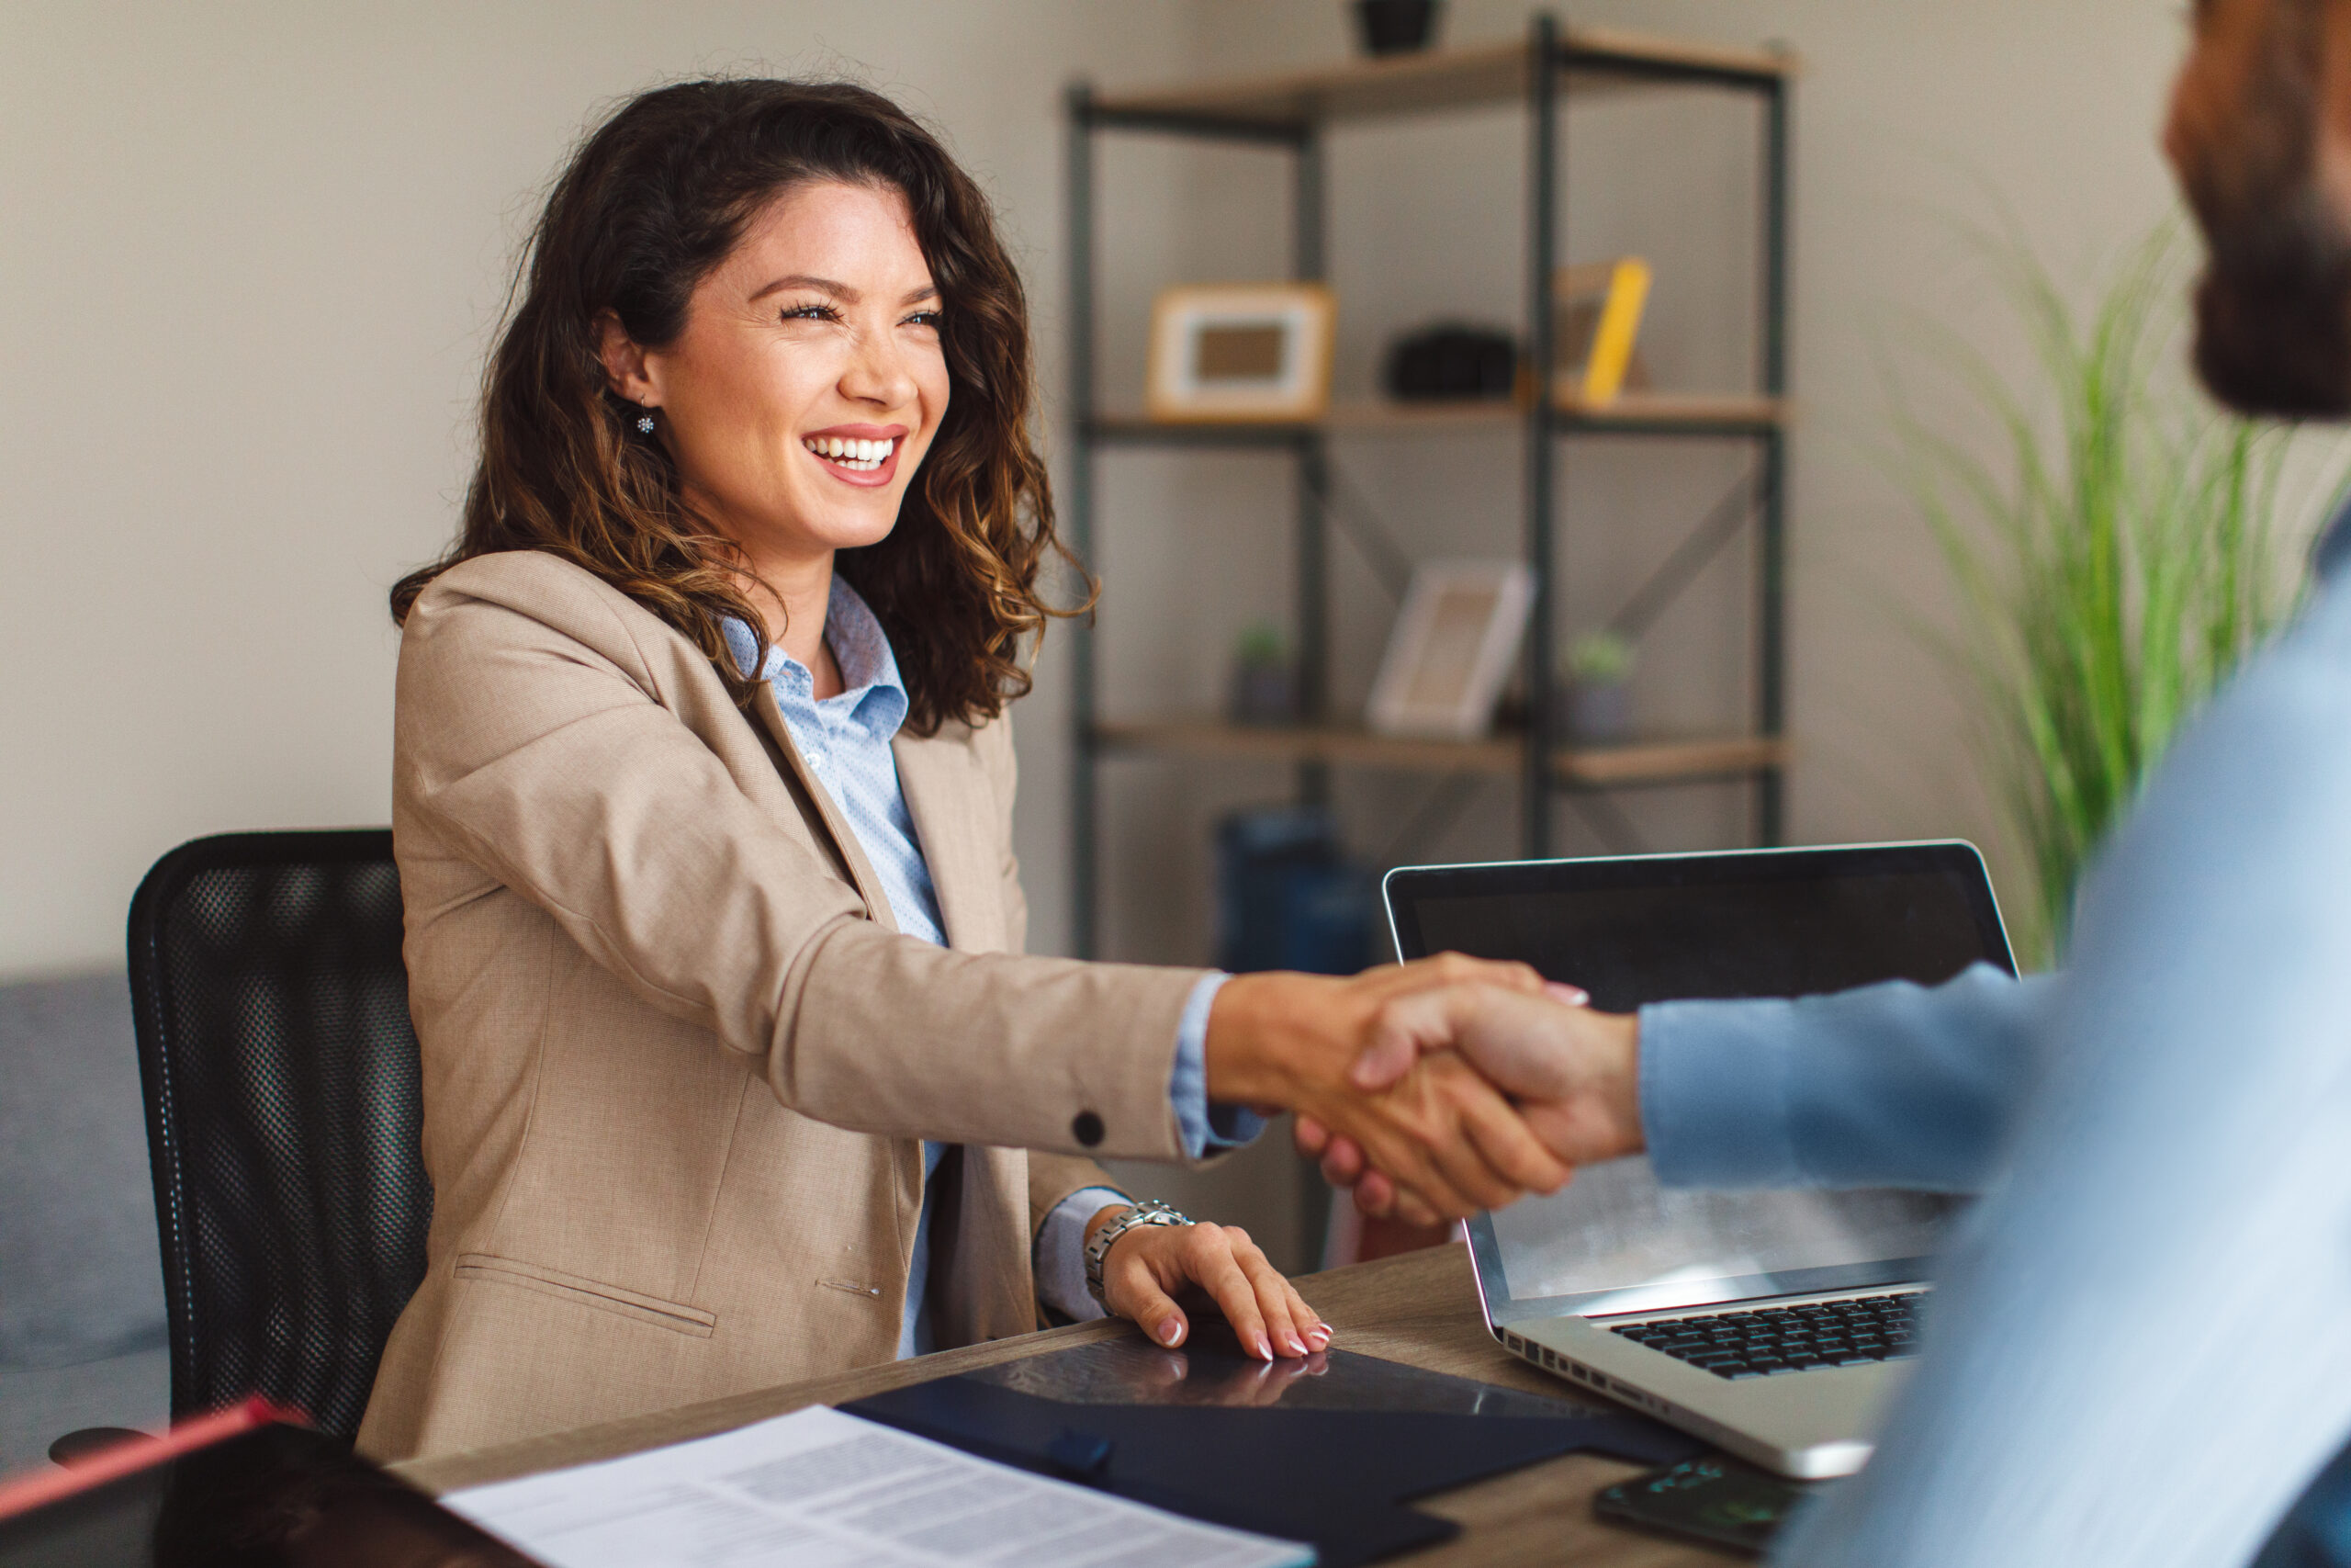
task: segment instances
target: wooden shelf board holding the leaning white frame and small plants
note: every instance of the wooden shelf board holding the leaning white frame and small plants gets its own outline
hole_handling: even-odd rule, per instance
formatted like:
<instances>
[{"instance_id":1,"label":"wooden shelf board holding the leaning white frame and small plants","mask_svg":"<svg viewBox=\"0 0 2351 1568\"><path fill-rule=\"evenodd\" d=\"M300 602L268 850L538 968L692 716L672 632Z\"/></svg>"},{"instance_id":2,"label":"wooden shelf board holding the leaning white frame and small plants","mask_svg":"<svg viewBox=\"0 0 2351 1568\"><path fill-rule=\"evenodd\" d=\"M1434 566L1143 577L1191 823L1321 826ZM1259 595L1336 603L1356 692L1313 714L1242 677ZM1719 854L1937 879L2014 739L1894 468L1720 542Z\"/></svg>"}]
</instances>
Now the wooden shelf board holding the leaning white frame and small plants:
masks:
<instances>
[{"instance_id":1,"label":"wooden shelf board holding the leaning white frame and small plants","mask_svg":"<svg viewBox=\"0 0 2351 1568\"><path fill-rule=\"evenodd\" d=\"M1258 729L1218 719L1103 719L1100 745L1114 750L1180 752L1190 757L1248 757L1260 762L1340 762L1415 773L1516 773L1521 748L1500 741L1415 741L1364 729ZM1782 766L1787 741L1714 736L1632 741L1627 745L1563 748L1552 764L1568 785L1665 783L1721 778Z\"/></svg>"}]
</instances>

